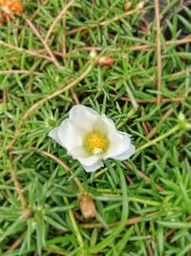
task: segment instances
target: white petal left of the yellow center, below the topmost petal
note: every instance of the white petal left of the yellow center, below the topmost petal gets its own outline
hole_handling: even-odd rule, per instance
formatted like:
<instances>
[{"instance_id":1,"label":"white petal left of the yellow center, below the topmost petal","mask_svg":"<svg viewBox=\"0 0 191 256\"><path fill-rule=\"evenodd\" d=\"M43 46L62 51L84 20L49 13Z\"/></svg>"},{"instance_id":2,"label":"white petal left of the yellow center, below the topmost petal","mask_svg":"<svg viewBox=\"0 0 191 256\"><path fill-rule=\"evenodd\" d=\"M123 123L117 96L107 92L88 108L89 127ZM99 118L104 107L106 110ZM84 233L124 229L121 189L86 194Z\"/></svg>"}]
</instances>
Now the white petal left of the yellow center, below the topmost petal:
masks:
<instances>
[{"instance_id":1,"label":"white petal left of the yellow center, below the topmost petal","mask_svg":"<svg viewBox=\"0 0 191 256\"><path fill-rule=\"evenodd\" d=\"M74 124L69 119L64 120L57 130L59 140L63 147L68 151L72 151L74 148L82 146L83 134L81 134L80 131L81 130L75 128Z\"/></svg>"}]
</instances>

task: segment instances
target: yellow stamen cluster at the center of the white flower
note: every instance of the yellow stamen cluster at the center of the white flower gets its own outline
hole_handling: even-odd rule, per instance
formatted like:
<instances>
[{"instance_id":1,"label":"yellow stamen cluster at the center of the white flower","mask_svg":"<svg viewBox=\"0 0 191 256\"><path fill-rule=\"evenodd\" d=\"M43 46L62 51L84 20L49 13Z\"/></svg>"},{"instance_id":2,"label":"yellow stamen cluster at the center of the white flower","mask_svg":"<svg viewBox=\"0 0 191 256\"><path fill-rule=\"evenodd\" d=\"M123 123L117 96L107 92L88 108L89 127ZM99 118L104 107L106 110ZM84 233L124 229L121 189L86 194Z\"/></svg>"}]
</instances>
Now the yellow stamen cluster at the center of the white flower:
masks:
<instances>
[{"instance_id":1,"label":"yellow stamen cluster at the center of the white flower","mask_svg":"<svg viewBox=\"0 0 191 256\"><path fill-rule=\"evenodd\" d=\"M88 151L91 151L92 154L97 155L106 150L107 139L104 138L102 134L93 132L86 137L85 146Z\"/></svg>"}]
</instances>

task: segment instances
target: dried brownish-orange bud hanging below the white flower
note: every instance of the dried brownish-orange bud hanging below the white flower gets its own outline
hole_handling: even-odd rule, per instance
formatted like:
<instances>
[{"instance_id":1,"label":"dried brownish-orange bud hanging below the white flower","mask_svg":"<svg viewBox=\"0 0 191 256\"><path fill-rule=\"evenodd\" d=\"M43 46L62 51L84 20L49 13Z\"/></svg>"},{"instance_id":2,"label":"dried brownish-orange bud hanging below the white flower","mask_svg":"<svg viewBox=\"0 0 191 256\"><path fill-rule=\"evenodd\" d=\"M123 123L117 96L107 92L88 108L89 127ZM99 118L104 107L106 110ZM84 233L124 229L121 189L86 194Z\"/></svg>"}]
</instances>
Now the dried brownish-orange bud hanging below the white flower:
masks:
<instances>
[{"instance_id":1,"label":"dried brownish-orange bud hanging below the white flower","mask_svg":"<svg viewBox=\"0 0 191 256\"><path fill-rule=\"evenodd\" d=\"M96 216L95 202L90 195L82 194L79 198L79 206L85 219L90 219Z\"/></svg>"}]
</instances>

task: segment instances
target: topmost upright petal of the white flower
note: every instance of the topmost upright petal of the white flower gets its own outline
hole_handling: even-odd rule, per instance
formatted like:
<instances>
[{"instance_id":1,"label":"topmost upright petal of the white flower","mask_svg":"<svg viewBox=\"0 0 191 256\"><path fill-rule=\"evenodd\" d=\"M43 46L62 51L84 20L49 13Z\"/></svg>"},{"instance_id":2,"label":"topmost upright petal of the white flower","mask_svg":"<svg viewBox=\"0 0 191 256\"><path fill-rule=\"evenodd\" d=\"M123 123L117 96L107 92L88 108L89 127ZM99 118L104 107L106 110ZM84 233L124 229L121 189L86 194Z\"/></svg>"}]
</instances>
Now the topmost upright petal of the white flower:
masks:
<instances>
[{"instance_id":1,"label":"topmost upright petal of the white flower","mask_svg":"<svg viewBox=\"0 0 191 256\"><path fill-rule=\"evenodd\" d=\"M91 131L100 115L88 106L74 105L70 110L69 118L76 128Z\"/></svg>"}]
</instances>

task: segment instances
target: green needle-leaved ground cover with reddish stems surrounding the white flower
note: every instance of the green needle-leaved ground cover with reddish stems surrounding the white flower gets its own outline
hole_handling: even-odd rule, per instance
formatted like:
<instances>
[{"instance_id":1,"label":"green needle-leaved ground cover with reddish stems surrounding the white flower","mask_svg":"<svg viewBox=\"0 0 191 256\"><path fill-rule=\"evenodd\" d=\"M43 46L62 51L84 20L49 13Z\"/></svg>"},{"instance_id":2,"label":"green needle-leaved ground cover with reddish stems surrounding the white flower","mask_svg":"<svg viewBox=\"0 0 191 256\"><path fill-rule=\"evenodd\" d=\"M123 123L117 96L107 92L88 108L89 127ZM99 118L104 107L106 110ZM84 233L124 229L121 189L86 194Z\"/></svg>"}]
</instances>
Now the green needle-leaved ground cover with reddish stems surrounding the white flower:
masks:
<instances>
[{"instance_id":1,"label":"green needle-leaved ground cover with reddish stems surrounding the white flower","mask_svg":"<svg viewBox=\"0 0 191 256\"><path fill-rule=\"evenodd\" d=\"M29 0L0 25L0 255L191 255L190 25L172 1L157 33L156 6L131 3ZM131 133L134 156L85 173L48 137L78 103Z\"/></svg>"}]
</instances>

